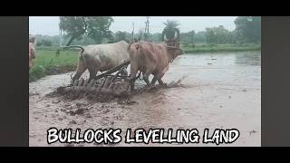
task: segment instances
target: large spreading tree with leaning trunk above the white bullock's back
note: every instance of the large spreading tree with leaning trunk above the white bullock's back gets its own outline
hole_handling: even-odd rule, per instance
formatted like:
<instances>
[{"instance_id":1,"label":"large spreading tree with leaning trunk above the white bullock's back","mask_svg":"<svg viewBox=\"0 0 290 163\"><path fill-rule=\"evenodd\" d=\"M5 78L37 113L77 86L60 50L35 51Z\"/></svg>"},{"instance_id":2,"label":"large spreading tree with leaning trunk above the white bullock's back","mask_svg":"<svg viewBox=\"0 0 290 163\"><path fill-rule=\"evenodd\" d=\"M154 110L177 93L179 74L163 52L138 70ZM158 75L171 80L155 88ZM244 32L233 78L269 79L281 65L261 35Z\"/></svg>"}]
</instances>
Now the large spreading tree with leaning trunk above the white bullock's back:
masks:
<instances>
[{"instance_id":1,"label":"large spreading tree with leaning trunk above the white bullock's back","mask_svg":"<svg viewBox=\"0 0 290 163\"><path fill-rule=\"evenodd\" d=\"M111 16L60 16L59 26L70 38L68 46L74 39L81 40L84 34L102 43L103 38L110 37L112 22Z\"/></svg>"}]
</instances>

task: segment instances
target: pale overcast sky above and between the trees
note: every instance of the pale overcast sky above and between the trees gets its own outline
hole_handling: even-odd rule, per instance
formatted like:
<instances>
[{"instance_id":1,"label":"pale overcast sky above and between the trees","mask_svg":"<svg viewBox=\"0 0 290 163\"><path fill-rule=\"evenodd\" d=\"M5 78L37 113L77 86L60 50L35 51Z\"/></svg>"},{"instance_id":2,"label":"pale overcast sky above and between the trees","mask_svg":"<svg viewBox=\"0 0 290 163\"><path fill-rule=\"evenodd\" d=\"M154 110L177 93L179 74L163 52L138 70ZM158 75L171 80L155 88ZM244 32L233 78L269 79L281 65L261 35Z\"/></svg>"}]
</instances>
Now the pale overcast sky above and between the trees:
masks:
<instances>
[{"instance_id":1,"label":"pale overcast sky above and between the trees","mask_svg":"<svg viewBox=\"0 0 290 163\"><path fill-rule=\"evenodd\" d=\"M145 27L146 16L112 16L114 22L111 24L111 31L132 32L132 23L135 25L135 33ZM161 33L167 20L179 21L181 33L194 30L196 33L204 31L206 27L224 25L233 31L235 29L234 20L237 16L150 16L150 33ZM58 35L59 16L30 16L29 34Z\"/></svg>"}]
</instances>

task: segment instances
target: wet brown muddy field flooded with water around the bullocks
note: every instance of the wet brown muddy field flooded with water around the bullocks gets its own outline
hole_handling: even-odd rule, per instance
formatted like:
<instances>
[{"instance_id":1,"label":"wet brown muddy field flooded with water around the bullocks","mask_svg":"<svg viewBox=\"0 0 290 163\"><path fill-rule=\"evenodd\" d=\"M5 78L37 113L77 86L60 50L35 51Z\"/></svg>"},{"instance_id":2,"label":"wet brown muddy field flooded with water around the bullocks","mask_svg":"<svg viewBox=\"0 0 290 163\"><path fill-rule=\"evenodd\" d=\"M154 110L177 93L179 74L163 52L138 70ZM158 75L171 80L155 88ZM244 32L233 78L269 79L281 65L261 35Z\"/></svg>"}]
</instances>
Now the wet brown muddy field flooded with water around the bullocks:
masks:
<instances>
[{"instance_id":1,"label":"wet brown muddy field flooded with water around the bullocks","mask_svg":"<svg viewBox=\"0 0 290 163\"><path fill-rule=\"evenodd\" d=\"M173 88L111 101L51 96L70 83L71 74L47 76L29 84L30 146L47 144L46 130L58 129L238 129L233 144L261 145L261 54L184 54L170 64L164 82ZM87 74L84 75L86 77ZM139 82L140 85L144 82ZM121 136L124 137L125 133ZM74 144L73 146L111 146ZM215 144L120 144L114 146L216 146Z\"/></svg>"}]
</instances>

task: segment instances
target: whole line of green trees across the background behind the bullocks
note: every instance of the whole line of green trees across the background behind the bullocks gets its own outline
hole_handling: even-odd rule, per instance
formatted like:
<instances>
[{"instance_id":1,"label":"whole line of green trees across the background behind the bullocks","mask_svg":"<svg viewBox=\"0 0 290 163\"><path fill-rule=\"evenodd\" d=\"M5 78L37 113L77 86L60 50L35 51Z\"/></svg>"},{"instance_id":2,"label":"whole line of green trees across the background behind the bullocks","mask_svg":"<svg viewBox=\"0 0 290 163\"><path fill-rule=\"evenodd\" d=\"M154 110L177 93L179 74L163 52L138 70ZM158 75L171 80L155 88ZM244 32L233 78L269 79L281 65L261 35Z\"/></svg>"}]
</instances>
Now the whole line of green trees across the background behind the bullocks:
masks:
<instances>
[{"instance_id":1,"label":"whole line of green trees across the background behind the bullocks","mask_svg":"<svg viewBox=\"0 0 290 163\"><path fill-rule=\"evenodd\" d=\"M174 21L172 21L174 22ZM113 23L111 16L60 16L60 28L64 32L62 44L94 44L115 43L121 40L130 42L132 34L124 31L111 32ZM169 21L168 21L169 23ZM261 43L261 17L238 16L234 21L236 29L227 30L223 25L208 27L205 31L196 33L194 30L188 33L180 33L182 43ZM166 24L172 25L172 24ZM175 21L174 27L179 24ZM59 36L35 35L38 46L57 46ZM143 39L142 31L135 34L135 38ZM162 32L146 35L152 42L162 42Z\"/></svg>"}]
</instances>

